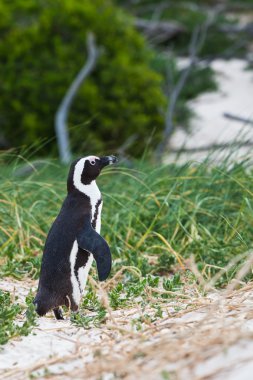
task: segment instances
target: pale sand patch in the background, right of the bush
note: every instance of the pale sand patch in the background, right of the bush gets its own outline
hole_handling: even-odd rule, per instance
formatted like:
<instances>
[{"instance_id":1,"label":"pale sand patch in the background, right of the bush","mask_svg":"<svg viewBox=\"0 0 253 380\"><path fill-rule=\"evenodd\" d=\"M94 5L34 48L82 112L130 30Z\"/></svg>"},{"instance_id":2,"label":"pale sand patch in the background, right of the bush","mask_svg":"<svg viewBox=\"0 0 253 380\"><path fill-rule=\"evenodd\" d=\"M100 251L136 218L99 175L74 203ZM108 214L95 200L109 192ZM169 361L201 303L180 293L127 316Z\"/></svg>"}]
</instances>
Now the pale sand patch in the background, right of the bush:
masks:
<instances>
[{"instance_id":1,"label":"pale sand patch in the background, right of the bush","mask_svg":"<svg viewBox=\"0 0 253 380\"><path fill-rule=\"evenodd\" d=\"M219 90L203 94L189 103L195 113L191 121L191 133L189 135L183 129L178 129L170 142L174 149L200 148L211 144L232 143L235 140L250 141L253 144L253 124L224 117L224 113L229 113L253 121L252 70L246 70L247 63L239 59L215 60L211 66L215 70ZM252 151L252 148L251 146L233 149L234 158L239 159L245 156ZM201 161L208 154L210 151L191 151L183 153L180 160ZM226 154L229 154L229 150L223 150L220 154L215 151L213 157L219 160ZM166 161L171 162L174 159L175 155L171 154Z\"/></svg>"}]
</instances>

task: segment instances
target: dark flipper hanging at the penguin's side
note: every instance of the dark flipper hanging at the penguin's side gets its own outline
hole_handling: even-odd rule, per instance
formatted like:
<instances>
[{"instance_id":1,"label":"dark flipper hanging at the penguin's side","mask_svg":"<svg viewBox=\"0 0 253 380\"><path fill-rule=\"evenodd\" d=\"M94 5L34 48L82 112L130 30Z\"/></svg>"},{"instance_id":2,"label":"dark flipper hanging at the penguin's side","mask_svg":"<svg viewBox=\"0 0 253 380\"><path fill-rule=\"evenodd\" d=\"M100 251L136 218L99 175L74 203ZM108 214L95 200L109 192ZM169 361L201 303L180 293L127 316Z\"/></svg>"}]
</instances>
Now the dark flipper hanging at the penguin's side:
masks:
<instances>
[{"instance_id":1,"label":"dark flipper hanging at the penguin's side","mask_svg":"<svg viewBox=\"0 0 253 380\"><path fill-rule=\"evenodd\" d=\"M91 226L90 217L86 218L83 230L77 236L78 246L92 253L97 265L99 281L105 281L112 267L112 256L107 242Z\"/></svg>"}]
</instances>

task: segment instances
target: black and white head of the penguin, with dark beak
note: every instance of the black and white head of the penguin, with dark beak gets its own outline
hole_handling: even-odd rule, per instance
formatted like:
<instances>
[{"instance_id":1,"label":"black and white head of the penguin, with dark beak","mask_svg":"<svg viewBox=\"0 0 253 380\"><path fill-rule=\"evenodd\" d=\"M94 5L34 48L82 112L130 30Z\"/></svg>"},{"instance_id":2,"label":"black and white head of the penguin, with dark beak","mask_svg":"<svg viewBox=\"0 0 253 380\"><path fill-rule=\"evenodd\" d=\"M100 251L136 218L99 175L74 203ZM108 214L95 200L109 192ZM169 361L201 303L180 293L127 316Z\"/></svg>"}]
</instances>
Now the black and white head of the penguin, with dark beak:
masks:
<instances>
[{"instance_id":1,"label":"black and white head of the penguin, with dark beak","mask_svg":"<svg viewBox=\"0 0 253 380\"><path fill-rule=\"evenodd\" d=\"M117 162L115 156L87 156L75 160L69 171L68 190L75 188L81 191L84 185L89 185L99 176L105 166L115 162Z\"/></svg>"}]
</instances>

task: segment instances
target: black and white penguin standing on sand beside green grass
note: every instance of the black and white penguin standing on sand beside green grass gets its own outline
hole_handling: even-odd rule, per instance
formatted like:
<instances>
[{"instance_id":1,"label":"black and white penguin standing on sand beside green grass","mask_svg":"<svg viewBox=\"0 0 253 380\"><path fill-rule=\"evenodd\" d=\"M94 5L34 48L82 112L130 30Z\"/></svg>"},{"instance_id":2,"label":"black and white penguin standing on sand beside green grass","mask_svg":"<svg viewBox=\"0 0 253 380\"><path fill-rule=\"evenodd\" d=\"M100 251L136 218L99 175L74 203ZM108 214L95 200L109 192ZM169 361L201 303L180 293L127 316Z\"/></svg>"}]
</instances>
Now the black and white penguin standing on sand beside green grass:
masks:
<instances>
[{"instance_id":1,"label":"black and white penguin standing on sand beside green grass","mask_svg":"<svg viewBox=\"0 0 253 380\"><path fill-rule=\"evenodd\" d=\"M87 156L71 164L67 197L43 251L34 299L39 316L53 310L56 319L64 319L63 305L78 310L93 259L100 281L110 274L110 248L100 236L102 197L96 178L105 166L116 161L115 156Z\"/></svg>"}]
</instances>

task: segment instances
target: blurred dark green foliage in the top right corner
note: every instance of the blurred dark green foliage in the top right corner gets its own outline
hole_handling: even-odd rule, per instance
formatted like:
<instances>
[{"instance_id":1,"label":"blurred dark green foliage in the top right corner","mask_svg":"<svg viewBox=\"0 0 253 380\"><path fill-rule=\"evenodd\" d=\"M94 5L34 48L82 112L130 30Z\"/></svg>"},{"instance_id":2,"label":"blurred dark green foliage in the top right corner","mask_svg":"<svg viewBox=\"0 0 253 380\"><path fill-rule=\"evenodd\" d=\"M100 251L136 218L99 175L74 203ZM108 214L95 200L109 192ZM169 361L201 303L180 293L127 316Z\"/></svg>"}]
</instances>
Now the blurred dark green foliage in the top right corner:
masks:
<instances>
[{"instance_id":1,"label":"blurred dark green foliage in the top right corner","mask_svg":"<svg viewBox=\"0 0 253 380\"><path fill-rule=\"evenodd\" d=\"M184 28L176 38L166 43L166 48L175 54L188 56L189 42L194 29L207 26L203 45L198 52L201 58L234 56L244 57L250 46L250 33L224 32L224 26L236 26L240 12L252 6L252 1L226 0L220 1L192 1L179 0L177 2L164 3L140 0L137 2L115 0L115 4L121 5L128 12L144 19L156 19L158 21L176 21ZM211 16L212 15L212 16ZM210 17L211 16L211 17ZM205 29L205 28L204 28ZM205 32L203 31L203 34Z\"/></svg>"}]
</instances>

